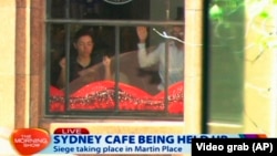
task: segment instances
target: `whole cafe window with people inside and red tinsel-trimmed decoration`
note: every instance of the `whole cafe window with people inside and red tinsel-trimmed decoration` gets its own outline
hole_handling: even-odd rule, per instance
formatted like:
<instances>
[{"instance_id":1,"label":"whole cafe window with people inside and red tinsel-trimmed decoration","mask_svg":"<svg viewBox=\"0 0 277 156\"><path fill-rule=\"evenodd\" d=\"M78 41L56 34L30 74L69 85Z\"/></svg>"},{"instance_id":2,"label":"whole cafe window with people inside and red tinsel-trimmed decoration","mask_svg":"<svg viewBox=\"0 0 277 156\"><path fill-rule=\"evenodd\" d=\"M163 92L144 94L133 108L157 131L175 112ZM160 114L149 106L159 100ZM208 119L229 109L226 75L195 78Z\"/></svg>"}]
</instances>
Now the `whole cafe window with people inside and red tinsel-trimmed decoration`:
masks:
<instances>
[{"instance_id":1,"label":"whole cafe window with people inside and red tinsel-trimmed decoration","mask_svg":"<svg viewBox=\"0 0 277 156\"><path fill-rule=\"evenodd\" d=\"M183 119L184 0L48 0L45 22L45 115Z\"/></svg>"}]
</instances>

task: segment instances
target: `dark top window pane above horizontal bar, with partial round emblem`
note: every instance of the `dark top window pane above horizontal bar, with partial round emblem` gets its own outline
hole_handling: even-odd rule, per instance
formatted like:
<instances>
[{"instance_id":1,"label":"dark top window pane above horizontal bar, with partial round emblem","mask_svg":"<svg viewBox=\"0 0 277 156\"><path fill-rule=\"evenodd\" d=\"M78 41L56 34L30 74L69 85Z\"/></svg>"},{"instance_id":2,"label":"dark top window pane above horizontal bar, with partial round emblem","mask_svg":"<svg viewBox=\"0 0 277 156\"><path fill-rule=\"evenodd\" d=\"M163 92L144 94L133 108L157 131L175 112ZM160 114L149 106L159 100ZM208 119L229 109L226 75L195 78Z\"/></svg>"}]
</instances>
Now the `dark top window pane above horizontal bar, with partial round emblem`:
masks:
<instances>
[{"instance_id":1,"label":"dark top window pane above horizontal bar, with partial round emblem","mask_svg":"<svg viewBox=\"0 0 277 156\"><path fill-rule=\"evenodd\" d=\"M51 19L175 20L183 6L184 0L48 0L48 12Z\"/></svg>"}]
</instances>

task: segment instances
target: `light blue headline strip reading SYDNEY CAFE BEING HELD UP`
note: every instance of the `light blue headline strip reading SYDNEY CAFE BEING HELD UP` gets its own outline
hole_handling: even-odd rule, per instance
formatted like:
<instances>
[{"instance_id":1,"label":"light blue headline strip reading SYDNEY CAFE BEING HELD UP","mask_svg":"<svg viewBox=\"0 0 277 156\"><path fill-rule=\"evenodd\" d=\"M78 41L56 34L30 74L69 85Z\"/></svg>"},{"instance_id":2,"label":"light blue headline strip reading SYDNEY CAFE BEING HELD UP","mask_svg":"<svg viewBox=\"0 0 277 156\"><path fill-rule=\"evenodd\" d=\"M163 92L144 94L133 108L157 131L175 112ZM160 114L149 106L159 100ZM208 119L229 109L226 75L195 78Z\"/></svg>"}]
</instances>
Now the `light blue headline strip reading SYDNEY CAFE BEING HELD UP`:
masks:
<instances>
[{"instance_id":1,"label":"light blue headline strip reading SYDNEY CAFE BEING HELD UP","mask_svg":"<svg viewBox=\"0 0 277 156\"><path fill-rule=\"evenodd\" d=\"M40 154L191 154L193 138L238 135L53 134Z\"/></svg>"}]
</instances>

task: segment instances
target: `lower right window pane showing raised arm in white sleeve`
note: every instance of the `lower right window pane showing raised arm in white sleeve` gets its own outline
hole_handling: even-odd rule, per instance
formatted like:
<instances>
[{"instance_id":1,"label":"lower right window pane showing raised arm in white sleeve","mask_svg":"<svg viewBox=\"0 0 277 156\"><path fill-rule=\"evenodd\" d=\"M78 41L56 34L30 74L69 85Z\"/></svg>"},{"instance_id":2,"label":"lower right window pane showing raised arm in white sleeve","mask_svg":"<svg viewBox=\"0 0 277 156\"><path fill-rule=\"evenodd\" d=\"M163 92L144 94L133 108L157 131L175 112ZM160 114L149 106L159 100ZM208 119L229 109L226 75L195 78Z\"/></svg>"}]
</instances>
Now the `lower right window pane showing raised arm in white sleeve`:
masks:
<instances>
[{"instance_id":1,"label":"lower right window pane showing raised arm in white sleeve","mask_svg":"<svg viewBox=\"0 0 277 156\"><path fill-rule=\"evenodd\" d=\"M167 37L179 38L181 42L167 40L166 37L161 35L165 33ZM147 34L144 37L144 42L138 38L141 34ZM131 96L125 98L131 103L129 105L140 103L144 106L150 105L150 110L153 107L153 111L160 112L167 112L167 107L172 111L174 105L181 105L175 111L182 115L184 91L183 24L123 27L120 39L121 53L117 74L120 83L129 87L127 93ZM165 100L166 96L168 101ZM135 107L135 110L145 111L142 107Z\"/></svg>"}]
</instances>

